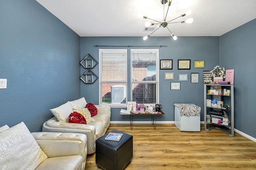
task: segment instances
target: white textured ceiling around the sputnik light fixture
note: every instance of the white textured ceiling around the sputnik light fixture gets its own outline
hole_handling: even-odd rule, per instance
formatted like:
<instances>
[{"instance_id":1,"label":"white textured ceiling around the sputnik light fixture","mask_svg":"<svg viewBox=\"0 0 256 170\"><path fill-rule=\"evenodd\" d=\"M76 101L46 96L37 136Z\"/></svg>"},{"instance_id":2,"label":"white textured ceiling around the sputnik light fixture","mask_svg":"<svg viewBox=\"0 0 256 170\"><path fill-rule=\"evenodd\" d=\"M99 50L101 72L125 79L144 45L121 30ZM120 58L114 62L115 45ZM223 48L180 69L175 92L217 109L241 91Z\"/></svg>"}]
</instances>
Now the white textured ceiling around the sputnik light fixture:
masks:
<instances>
[{"instance_id":1,"label":"white textured ceiling around the sputnik light fixture","mask_svg":"<svg viewBox=\"0 0 256 170\"><path fill-rule=\"evenodd\" d=\"M164 19L160 0L36 1L81 37L144 37L152 32L143 31L150 20L138 18L139 13ZM193 18L193 23L168 24L176 36L220 36L256 18L256 0L172 0L166 20L190 9L190 16L175 21ZM170 32L161 27L151 36L170 36Z\"/></svg>"}]
</instances>

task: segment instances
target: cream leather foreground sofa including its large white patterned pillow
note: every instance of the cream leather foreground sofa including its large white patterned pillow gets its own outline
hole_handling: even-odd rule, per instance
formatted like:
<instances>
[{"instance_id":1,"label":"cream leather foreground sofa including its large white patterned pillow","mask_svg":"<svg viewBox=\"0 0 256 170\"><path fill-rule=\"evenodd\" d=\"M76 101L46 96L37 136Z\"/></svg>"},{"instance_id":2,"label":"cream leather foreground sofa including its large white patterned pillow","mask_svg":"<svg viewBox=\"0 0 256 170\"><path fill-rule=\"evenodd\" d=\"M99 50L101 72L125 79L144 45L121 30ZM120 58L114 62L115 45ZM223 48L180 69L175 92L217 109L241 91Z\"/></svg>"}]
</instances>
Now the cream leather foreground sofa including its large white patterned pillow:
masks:
<instances>
[{"instance_id":1,"label":"cream leather foreground sofa including its large white patterned pillow","mask_svg":"<svg viewBox=\"0 0 256 170\"><path fill-rule=\"evenodd\" d=\"M0 127L1 170L84 170L87 137L79 133L30 133L21 122Z\"/></svg>"}]
</instances>

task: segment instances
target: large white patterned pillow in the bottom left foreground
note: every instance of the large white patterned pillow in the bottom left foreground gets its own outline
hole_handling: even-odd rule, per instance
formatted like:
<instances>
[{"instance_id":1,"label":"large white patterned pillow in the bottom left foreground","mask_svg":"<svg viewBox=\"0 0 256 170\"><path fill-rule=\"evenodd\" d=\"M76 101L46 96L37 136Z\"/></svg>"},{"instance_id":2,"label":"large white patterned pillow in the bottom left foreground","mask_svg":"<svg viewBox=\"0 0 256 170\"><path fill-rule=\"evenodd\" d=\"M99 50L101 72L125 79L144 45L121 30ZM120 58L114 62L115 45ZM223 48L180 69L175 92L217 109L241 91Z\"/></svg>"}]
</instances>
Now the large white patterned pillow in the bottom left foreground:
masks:
<instances>
[{"instance_id":1,"label":"large white patterned pillow in the bottom left foreground","mask_svg":"<svg viewBox=\"0 0 256 170\"><path fill-rule=\"evenodd\" d=\"M0 169L34 170L48 156L21 122L0 132Z\"/></svg>"}]
</instances>

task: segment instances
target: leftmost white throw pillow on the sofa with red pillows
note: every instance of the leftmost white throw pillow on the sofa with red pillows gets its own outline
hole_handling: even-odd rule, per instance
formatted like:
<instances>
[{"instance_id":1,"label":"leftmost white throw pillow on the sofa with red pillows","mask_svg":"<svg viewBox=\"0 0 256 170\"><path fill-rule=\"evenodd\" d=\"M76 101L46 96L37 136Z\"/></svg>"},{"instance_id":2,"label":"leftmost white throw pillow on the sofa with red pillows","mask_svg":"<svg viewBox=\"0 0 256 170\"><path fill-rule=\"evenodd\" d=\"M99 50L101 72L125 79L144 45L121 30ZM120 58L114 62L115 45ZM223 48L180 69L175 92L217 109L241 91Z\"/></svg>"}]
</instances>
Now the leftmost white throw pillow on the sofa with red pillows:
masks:
<instances>
[{"instance_id":1,"label":"leftmost white throw pillow on the sofa with red pillows","mask_svg":"<svg viewBox=\"0 0 256 170\"><path fill-rule=\"evenodd\" d=\"M59 107L54 109L50 109L52 114L56 117L56 119L60 122L68 122L68 116L70 113L73 113L73 108L70 102L66 102Z\"/></svg>"}]
</instances>

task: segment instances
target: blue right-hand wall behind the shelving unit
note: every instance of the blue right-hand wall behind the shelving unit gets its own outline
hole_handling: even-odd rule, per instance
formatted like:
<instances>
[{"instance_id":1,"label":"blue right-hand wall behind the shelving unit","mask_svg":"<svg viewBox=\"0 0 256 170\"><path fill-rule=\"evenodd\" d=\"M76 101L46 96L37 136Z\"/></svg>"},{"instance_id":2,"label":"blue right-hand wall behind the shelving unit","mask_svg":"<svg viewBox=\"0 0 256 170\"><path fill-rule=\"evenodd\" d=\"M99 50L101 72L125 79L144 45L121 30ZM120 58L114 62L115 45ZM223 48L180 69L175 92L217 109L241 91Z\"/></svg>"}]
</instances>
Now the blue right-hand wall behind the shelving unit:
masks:
<instances>
[{"instance_id":1,"label":"blue right-hand wall behind the shelving unit","mask_svg":"<svg viewBox=\"0 0 256 170\"><path fill-rule=\"evenodd\" d=\"M256 19L220 37L220 64L235 69L235 129L256 138Z\"/></svg>"}]
</instances>

